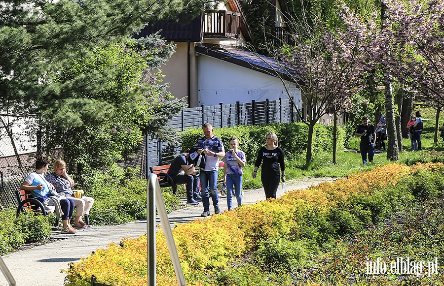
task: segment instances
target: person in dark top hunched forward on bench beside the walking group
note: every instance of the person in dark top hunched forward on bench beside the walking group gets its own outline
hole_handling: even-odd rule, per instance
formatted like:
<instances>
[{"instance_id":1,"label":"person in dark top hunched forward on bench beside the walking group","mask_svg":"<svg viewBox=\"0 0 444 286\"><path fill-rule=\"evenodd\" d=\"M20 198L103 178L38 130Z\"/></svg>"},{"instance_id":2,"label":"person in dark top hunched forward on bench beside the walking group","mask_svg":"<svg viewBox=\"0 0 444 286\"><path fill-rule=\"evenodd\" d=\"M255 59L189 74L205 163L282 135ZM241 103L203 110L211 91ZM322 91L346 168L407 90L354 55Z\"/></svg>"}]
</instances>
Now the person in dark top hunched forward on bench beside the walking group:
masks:
<instances>
[{"instance_id":1,"label":"person in dark top hunched forward on bench beside the walking group","mask_svg":"<svg viewBox=\"0 0 444 286\"><path fill-rule=\"evenodd\" d=\"M195 172L195 168L193 164L188 164L188 158L189 150L186 150L174 158L167 174L170 175L174 183L186 184L186 203L189 205L198 205L199 202L193 198L193 172ZM182 174L182 171L184 171L185 174Z\"/></svg>"}]
</instances>

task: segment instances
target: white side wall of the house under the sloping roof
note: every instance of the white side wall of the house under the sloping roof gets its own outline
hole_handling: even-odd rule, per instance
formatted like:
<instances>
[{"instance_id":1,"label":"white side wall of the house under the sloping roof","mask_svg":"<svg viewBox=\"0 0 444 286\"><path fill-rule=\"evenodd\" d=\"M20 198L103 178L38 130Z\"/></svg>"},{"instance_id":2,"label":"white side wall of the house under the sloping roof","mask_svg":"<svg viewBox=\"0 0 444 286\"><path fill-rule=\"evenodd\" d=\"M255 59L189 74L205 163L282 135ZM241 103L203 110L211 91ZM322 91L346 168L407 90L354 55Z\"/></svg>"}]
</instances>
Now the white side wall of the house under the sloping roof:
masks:
<instances>
[{"instance_id":1,"label":"white side wall of the house under the sloping roof","mask_svg":"<svg viewBox=\"0 0 444 286\"><path fill-rule=\"evenodd\" d=\"M205 55L198 59L199 104L232 104L236 101L265 101L288 98L279 78L259 71L224 62ZM296 84L285 81L296 104L300 106L300 91Z\"/></svg>"}]
</instances>

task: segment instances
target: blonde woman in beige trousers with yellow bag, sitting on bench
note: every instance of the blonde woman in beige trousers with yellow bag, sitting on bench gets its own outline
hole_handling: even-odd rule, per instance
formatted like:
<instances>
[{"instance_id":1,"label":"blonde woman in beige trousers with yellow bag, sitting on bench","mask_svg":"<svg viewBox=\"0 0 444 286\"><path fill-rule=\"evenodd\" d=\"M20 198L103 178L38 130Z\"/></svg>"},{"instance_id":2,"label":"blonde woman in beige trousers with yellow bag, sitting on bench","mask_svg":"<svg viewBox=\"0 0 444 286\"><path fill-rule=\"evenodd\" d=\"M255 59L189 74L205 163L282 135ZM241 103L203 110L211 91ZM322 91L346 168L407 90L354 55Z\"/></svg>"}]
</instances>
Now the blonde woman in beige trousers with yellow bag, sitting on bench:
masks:
<instances>
[{"instance_id":1,"label":"blonde woman in beige trousers with yellow bag, sitting on bench","mask_svg":"<svg viewBox=\"0 0 444 286\"><path fill-rule=\"evenodd\" d=\"M81 198L76 198L74 196L74 180L66 172L66 162L62 159L57 159L53 166L54 172L47 175L45 179L54 185L56 191L74 201L75 205L75 228L88 228L89 227L89 210L91 209L94 199L89 196L82 196ZM82 220L82 216L85 216L85 222Z\"/></svg>"}]
</instances>

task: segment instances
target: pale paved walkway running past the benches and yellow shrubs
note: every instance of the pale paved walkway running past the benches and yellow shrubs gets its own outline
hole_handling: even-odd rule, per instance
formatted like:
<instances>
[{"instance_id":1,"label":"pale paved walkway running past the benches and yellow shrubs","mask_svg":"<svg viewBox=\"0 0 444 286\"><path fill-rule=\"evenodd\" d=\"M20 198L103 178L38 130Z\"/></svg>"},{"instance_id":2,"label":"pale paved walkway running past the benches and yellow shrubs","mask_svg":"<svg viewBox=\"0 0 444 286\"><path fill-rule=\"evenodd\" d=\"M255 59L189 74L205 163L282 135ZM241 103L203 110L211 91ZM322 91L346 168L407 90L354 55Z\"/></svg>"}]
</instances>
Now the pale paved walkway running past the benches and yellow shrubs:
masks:
<instances>
[{"instance_id":1,"label":"pale paved walkway running past the benches and yellow shrubs","mask_svg":"<svg viewBox=\"0 0 444 286\"><path fill-rule=\"evenodd\" d=\"M286 189L304 189L325 181L334 181L334 178L291 180L286 183ZM244 192L243 204L253 204L265 199L263 189ZM278 195L282 195L282 191L278 191ZM185 204L185 200L182 202ZM236 206L235 199L233 203ZM219 205L222 212L226 210L226 199L221 198ZM185 223L200 219L202 212L202 204L191 205L170 213L168 217L172 224ZM210 213L214 213L212 207ZM158 218L157 221L160 223ZM146 232L146 220L112 226L92 226L75 234L61 234L57 230L53 231L51 237L61 240L4 255L2 258L17 286L63 286L66 275L61 271L67 269L70 262L79 261L80 257L86 257L96 249L106 248L111 242L118 244L123 237L138 237ZM0 274L0 286L7 285L6 279Z\"/></svg>"}]
</instances>

